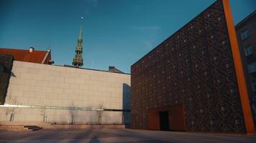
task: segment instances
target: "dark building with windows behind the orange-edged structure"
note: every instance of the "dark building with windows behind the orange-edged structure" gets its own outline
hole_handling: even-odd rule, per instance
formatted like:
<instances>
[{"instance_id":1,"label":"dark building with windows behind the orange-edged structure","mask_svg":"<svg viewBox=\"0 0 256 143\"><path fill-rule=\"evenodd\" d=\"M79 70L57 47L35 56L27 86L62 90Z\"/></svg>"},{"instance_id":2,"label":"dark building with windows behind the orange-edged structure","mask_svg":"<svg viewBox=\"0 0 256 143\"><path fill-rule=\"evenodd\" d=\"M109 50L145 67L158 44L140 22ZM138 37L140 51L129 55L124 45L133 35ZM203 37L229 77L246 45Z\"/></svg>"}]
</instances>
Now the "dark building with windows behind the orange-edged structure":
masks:
<instances>
[{"instance_id":1,"label":"dark building with windows behind the orange-edged structure","mask_svg":"<svg viewBox=\"0 0 256 143\"><path fill-rule=\"evenodd\" d=\"M236 26L247 90L256 122L256 11Z\"/></svg>"}]
</instances>

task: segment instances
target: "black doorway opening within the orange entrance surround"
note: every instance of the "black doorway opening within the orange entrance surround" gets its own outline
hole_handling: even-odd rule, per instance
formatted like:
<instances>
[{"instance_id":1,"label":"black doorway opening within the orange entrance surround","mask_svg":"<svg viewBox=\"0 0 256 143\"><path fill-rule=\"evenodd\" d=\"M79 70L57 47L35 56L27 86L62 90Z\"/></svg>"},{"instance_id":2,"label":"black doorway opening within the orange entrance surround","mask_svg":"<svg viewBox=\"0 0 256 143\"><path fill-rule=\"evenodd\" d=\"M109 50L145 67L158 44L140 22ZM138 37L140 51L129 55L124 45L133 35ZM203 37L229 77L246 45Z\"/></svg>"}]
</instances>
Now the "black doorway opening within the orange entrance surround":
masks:
<instances>
[{"instance_id":1,"label":"black doorway opening within the orange entrance surround","mask_svg":"<svg viewBox=\"0 0 256 143\"><path fill-rule=\"evenodd\" d=\"M160 120L160 130L168 131L169 130L169 114L168 112L158 112Z\"/></svg>"}]
</instances>

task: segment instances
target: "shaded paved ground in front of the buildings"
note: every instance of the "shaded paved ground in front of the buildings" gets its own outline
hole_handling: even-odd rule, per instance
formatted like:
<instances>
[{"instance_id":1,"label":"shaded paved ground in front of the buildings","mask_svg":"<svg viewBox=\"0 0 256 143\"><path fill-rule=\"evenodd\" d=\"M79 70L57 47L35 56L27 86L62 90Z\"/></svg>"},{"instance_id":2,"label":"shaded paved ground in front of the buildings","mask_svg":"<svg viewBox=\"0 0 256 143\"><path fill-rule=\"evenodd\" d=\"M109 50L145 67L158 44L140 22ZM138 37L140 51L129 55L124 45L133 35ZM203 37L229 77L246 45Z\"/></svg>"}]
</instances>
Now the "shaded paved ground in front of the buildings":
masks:
<instances>
[{"instance_id":1,"label":"shaded paved ground in front of the buildings","mask_svg":"<svg viewBox=\"0 0 256 143\"><path fill-rule=\"evenodd\" d=\"M0 142L256 142L255 135L211 134L202 132L163 132L133 129L46 130L35 132L0 132Z\"/></svg>"}]
</instances>

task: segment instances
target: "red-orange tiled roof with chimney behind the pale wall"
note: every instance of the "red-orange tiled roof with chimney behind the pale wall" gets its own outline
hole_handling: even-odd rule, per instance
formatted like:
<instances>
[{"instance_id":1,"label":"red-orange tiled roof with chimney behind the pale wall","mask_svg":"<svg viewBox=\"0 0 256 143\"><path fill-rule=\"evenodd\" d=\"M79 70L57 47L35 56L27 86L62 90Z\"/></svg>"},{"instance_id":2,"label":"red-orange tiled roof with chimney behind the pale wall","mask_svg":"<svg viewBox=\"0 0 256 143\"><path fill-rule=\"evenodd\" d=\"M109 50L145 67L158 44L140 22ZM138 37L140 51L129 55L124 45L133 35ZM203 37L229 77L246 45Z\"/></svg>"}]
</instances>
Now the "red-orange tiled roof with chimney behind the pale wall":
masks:
<instances>
[{"instance_id":1,"label":"red-orange tiled roof with chimney behind the pale wall","mask_svg":"<svg viewBox=\"0 0 256 143\"><path fill-rule=\"evenodd\" d=\"M51 59L50 52L48 51L36 51L33 50L29 52L29 49L4 49L0 48L0 54L11 54L14 56L14 59L17 61L27 61L32 63L42 64L42 61L45 59L43 64L50 64L49 60ZM45 57L47 56L47 57Z\"/></svg>"}]
</instances>

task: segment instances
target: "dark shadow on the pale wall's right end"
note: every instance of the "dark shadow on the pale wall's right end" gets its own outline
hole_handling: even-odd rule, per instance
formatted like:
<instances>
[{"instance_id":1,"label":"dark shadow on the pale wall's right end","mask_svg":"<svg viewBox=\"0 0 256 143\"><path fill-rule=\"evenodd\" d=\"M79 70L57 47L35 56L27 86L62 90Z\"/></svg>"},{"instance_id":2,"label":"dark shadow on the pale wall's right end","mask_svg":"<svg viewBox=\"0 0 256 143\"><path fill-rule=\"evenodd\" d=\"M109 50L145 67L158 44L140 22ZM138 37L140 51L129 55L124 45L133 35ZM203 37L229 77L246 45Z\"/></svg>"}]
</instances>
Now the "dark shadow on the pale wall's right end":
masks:
<instances>
[{"instance_id":1,"label":"dark shadow on the pale wall's right end","mask_svg":"<svg viewBox=\"0 0 256 143\"><path fill-rule=\"evenodd\" d=\"M125 128L129 128L131 119L131 87L128 84L123 84L123 117L122 122Z\"/></svg>"}]
</instances>

